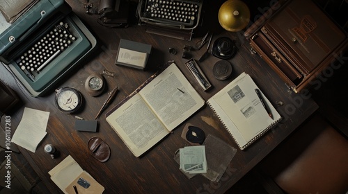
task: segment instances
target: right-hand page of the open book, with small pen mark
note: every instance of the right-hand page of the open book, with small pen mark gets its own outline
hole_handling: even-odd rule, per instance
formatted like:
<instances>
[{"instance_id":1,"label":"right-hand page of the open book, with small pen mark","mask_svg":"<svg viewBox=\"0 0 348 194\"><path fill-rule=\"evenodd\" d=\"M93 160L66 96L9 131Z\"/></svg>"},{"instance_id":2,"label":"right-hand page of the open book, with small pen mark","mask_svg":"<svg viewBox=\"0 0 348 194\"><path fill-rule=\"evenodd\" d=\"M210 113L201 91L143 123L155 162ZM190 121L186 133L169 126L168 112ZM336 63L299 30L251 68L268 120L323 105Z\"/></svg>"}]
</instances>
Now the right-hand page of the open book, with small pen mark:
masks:
<instances>
[{"instance_id":1,"label":"right-hand page of the open book, with small pen mark","mask_svg":"<svg viewBox=\"0 0 348 194\"><path fill-rule=\"evenodd\" d=\"M170 131L205 104L174 63L139 94Z\"/></svg>"}]
</instances>

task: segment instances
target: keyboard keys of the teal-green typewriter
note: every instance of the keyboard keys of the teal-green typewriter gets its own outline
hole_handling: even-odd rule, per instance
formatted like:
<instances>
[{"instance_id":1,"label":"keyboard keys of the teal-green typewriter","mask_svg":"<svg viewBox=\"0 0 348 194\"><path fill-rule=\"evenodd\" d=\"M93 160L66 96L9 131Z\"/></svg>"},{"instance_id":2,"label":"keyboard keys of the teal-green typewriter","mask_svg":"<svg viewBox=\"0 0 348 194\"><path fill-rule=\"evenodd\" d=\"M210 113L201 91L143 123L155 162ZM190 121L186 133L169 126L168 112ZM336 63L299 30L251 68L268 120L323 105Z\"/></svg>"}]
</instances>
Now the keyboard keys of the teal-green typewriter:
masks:
<instances>
[{"instance_id":1,"label":"keyboard keys of the teal-green typewriter","mask_svg":"<svg viewBox=\"0 0 348 194\"><path fill-rule=\"evenodd\" d=\"M34 72L40 73L49 62L74 42L76 37L70 33L68 27L67 23L59 22L17 58L17 64L31 80L34 78Z\"/></svg>"}]
</instances>

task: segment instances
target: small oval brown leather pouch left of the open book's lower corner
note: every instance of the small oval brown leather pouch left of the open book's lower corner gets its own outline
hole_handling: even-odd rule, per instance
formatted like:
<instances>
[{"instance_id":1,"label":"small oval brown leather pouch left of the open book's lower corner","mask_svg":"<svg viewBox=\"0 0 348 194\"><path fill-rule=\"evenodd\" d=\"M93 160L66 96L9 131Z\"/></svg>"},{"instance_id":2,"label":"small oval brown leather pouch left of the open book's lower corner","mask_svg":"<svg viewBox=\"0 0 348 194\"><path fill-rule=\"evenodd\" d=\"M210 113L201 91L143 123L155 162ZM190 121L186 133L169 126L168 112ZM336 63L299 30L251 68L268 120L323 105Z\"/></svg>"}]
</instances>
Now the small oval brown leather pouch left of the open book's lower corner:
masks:
<instances>
[{"instance_id":1,"label":"small oval brown leather pouch left of the open book's lower corner","mask_svg":"<svg viewBox=\"0 0 348 194\"><path fill-rule=\"evenodd\" d=\"M107 161L111 154L109 145L97 136L89 139L88 149L92 153L92 156L100 162Z\"/></svg>"}]
</instances>

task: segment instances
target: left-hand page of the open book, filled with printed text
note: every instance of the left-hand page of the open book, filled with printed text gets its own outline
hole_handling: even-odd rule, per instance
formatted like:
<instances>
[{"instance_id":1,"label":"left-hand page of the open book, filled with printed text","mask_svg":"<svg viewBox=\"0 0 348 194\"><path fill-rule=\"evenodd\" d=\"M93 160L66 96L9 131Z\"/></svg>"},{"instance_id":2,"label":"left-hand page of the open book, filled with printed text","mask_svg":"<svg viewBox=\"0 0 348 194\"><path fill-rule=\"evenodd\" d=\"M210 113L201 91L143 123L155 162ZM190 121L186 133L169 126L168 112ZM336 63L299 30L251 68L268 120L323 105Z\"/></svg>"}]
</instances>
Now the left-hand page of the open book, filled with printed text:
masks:
<instances>
[{"instance_id":1,"label":"left-hand page of the open book, filled with printed text","mask_svg":"<svg viewBox=\"0 0 348 194\"><path fill-rule=\"evenodd\" d=\"M106 121L136 157L169 133L139 94L107 116Z\"/></svg>"}]
</instances>

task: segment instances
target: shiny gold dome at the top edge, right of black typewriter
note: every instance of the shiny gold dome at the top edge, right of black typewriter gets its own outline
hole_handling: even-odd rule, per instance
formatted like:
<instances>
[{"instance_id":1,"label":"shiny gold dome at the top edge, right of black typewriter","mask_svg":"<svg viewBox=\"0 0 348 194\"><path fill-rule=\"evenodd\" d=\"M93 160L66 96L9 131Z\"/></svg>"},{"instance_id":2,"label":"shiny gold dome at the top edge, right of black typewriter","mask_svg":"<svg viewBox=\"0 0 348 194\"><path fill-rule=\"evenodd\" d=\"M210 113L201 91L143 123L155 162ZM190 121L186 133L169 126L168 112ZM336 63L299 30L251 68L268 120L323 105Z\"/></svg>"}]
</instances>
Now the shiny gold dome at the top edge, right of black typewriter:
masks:
<instances>
[{"instance_id":1,"label":"shiny gold dome at the top edge, right of black typewriter","mask_svg":"<svg viewBox=\"0 0 348 194\"><path fill-rule=\"evenodd\" d=\"M243 1L228 0L219 9L219 23L230 32L244 29L250 21L250 10Z\"/></svg>"}]
</instances>

